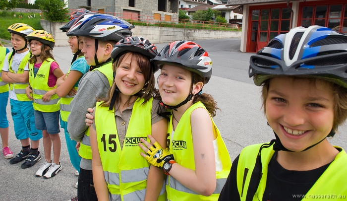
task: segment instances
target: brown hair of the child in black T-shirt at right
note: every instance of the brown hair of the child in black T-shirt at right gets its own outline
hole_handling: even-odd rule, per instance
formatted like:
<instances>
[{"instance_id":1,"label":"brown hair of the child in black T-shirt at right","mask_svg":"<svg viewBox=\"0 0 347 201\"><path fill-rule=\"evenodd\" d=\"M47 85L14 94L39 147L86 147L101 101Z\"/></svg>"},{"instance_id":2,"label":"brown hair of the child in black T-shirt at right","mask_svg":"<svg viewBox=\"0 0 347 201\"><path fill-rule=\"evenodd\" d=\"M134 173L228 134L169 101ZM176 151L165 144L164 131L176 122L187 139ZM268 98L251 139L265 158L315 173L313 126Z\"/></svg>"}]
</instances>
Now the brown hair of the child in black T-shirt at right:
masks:
<instances>
[{"instance_id":1,"label":"brown hair of the child in black T-shirt at right","mask_svg":"<svg viewBox=\"0 0 347 201\"><path fill-rule=\"evenodd\" d=\"M312 77L293 77L294 79L308 79L310 83L315 84L317 79L320 78L312 78ZM264 108L264 114L266 113L265 105L266 105L266 98L268 96L269 92L269 85L270 80L267 79L262 84L262 99L263 104L262 107ZM320 79L325 81L332 92L334 94L334 121L333 121L333 131L337 132L338 127L341 126L347 119L347 89L341 85L335 84L333 82L326 81L324 79Z\"/></svg>"}]
</instances>

